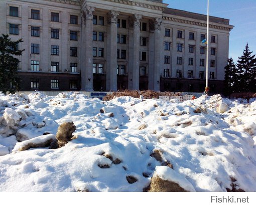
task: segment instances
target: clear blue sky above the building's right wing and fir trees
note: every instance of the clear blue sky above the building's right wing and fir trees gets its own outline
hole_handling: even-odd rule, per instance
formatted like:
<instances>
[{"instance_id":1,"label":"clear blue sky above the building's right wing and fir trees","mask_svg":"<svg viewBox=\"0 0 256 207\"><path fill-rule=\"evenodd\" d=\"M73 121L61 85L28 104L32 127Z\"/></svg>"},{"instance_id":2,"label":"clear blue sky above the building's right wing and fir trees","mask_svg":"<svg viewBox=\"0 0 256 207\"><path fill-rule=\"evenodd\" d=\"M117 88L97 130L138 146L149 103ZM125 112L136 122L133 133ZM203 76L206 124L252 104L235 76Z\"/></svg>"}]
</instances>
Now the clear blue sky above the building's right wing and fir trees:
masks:
<instances>
[{"instance_id":1,"label":"clear blue sky above the building's right wing and fir trees","mask_svg":"<svg viewBox=\"0 0 256 207\"><path fill-rule=\"evenodd\" d=\"M229 19L235 26L230 32L229 57L241 57L248 43L256 53L256 0L209 0L209 15ZM163 0L169 8L207 15L207 0Z\"/></svg>"}]
</instances>

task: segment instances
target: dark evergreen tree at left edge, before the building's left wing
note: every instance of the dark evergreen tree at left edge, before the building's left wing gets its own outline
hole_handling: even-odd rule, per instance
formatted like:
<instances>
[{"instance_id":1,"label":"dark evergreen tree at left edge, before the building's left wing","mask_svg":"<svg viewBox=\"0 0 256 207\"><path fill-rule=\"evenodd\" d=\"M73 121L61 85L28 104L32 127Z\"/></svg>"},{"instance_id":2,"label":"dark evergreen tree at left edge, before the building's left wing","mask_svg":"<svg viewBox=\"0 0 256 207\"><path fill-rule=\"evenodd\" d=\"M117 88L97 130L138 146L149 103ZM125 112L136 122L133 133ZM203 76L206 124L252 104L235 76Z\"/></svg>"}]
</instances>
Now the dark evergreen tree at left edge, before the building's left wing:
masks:
<instances>
[{"instance_id":1,"label":"dark evergreen tree at left edge, before the building's left wing","mask_svg":"<svg viewBox=\"0 0 256 207\"><path fill-rule=\"evenodd\" d=\"M9 35L0 37L0 91L14 93L19 89L17 70L19 60L14 56L21 56L24 50L19 50L22 39L12 41Z\"/></svg>"}]
</instances>

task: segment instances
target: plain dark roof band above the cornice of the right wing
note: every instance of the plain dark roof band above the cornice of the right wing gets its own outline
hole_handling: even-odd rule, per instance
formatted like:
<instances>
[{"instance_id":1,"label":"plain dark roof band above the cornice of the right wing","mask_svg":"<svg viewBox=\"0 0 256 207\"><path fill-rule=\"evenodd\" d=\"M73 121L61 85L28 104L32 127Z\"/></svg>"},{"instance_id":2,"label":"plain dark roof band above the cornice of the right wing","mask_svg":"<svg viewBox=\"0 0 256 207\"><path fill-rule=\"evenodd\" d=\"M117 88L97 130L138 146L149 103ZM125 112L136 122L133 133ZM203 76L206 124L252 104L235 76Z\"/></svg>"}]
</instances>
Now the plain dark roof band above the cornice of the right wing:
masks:
<instances>
[{"instance_id":1,"label":"plain dark roof band above the cornice of the right wing","mask_svg":"<svg viewBox=\"0 0 256 207\"><path fill-rule=\"evenodd\" d=\"M192 18L192 19L196 19L196 20L207 21L207 15L201 15L201 14L197 14L197 13L193 13L193 12L187 12L187 11L183 11L183 10L165 8L163 13L164 14L169 14L169 15L185 17L185 18ZM219 17L209 16L209 22L229 25L229 20L228 19L219 18Z\"/></svg>"}]
</instances>

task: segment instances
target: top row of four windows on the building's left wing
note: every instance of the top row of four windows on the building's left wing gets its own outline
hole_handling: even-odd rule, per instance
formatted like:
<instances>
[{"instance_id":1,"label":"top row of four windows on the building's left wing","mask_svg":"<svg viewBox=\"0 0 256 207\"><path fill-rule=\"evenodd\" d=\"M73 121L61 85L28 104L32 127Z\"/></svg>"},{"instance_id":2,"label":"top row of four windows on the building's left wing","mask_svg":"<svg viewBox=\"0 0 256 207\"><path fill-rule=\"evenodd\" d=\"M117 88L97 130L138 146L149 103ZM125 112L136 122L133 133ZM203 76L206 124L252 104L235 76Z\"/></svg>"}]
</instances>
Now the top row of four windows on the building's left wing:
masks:
<instances>
[{"instance_id":1,"label":"top row of four windows on the building's left wing","mask_svg":"<svg viewBox=\"0 0 256 207\"><path fill-rule=\"evenodd\" d=\"M12 17L19 17L19 7L12 7L10 6L10 16ZM40 10L31 10L31 19L33 20L40 20ZM51 13L51 21L52 22L60 22L60 13ZM70 24L77 25L78 24L78 16L77 15L70 15Z\"/></svg>"}]
</instances>

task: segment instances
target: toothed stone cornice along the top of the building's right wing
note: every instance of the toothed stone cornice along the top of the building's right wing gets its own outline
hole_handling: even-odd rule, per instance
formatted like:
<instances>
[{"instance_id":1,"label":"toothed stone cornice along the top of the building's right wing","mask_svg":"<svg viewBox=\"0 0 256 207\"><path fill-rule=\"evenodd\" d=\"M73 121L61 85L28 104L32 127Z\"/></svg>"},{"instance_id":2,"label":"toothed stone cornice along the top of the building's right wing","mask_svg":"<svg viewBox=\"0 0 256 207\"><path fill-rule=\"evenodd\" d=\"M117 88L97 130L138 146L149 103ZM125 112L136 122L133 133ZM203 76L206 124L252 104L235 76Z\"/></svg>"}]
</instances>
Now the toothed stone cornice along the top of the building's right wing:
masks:
<instances>
[{"instance_id":1,"label":"toothed stone cornice along the top of the building's right wing","mask_svg":"<svg viewBox=\"0 0 256 207\"><path fill-rule=\"evenodd\" d=\"M177 23L183 23L183 24L188 24L188 25L195 25L195 26L200 26L200 27L207 27L207 23L195 21L195 20L186 20L186 19L181 19L177 17L167 17L163 16L163 20L171 21L171 22L177 22ZM209 28L212 29L218 29L218 30L225 30L225 31L231 31L233 29L232 25L220 25L220 24L211 24L209 23Z\"/></svg>"}]
</instances>

